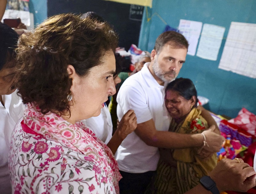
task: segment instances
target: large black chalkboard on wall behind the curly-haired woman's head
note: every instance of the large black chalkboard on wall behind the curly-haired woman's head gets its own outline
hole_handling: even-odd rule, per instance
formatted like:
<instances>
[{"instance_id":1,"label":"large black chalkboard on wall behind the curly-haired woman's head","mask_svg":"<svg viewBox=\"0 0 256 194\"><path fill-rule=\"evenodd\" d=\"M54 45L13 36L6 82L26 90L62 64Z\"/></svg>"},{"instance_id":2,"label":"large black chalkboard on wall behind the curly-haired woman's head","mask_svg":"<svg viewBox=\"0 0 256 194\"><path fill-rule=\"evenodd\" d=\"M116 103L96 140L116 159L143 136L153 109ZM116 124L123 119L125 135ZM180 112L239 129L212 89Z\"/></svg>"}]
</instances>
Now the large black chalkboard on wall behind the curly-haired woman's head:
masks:
<instances>
[{"instance_id":1,"label":"large black chalkboard on wall behind the curly-haired woman's head","mask_svg":"<svg viewBox=\"0 0 256 194\"><path fill-rule=\"evenodd\" d=\"M131 4L103 0L50 0L47 1L47 10L48 17L61 13L96 12L118 33L119 47L128 50L131 44L138 46L141 21L130 18Z\"/></svg>"}]
</instances>

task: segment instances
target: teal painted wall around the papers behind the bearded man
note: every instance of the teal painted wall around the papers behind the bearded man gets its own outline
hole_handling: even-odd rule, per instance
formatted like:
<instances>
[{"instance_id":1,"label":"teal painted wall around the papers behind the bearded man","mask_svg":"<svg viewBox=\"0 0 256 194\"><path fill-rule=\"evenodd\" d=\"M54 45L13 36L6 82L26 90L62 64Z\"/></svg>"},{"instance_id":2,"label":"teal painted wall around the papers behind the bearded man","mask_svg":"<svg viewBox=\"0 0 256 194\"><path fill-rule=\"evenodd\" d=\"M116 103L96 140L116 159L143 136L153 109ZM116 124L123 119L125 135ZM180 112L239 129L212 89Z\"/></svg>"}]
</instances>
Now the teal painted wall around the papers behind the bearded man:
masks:
<instances>
[{"instance_id":1,"label":"teal painted wall around the papers behind the bearded man","mask_svg":"<svg viewBox=\"0 0 256 194\"><path fill-rule=\"evenodd\" d=\"M217 61L187 55L179 77L190 78L198 95L210 100L208 110L236 117L245 107L256 114L256 79L218 68L231 22L256 23L255 10L255 0L153 0L152 9L148 8L148 17L153 15L149 22L144 10L139 48L151 52L157 36L164 31L165 24L156 13L174 28L178 28L180 19L225 27Z\"/></svg>"}]
</instances>

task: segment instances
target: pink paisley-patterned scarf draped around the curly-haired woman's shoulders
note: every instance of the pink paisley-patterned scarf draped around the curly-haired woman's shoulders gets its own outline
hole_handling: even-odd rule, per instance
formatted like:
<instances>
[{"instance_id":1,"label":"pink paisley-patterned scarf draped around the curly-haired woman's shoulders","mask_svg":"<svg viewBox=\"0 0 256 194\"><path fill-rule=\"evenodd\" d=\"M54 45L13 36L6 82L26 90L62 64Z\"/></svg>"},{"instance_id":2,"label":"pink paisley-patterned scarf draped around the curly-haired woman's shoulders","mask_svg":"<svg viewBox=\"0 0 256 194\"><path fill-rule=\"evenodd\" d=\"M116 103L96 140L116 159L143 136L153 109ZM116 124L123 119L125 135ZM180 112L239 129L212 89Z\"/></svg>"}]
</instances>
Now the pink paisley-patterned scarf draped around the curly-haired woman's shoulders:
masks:
<instances>
[{"instance_id":1,"label":"pink paisley-patterned scarf draped around the curly-haired woman's shoulders","mask_svg":"<svg viewBox=\"0 0 256 194\"><path fill-rule=\"evenodd\" d=\"M96 161L99 167L104 169L106 175L112 177L115 189L119 193L118 181L122 176L113 153L82 122L73 125L52 112L42 114L38 107L30 103L27 104L23 119L24 125L28 126L27 129L22 127L24 131L37 133L46 139L60 142L86 155L84 158L88 158L88 161ZM94 147L88 146L88 143L93 144Z\"/></svg>"}]
</instances>

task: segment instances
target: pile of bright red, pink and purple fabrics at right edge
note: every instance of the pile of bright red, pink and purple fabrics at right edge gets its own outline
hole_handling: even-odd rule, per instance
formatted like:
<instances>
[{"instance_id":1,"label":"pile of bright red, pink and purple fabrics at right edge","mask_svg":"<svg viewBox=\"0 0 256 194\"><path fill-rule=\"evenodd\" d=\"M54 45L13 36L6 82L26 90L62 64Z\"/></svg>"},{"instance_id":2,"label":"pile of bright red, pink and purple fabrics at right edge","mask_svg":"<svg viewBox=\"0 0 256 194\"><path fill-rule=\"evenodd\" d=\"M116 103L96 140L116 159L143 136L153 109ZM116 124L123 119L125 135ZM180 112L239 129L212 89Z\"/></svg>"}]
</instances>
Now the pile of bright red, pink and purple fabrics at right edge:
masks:
<instances>
[{"instance_id":1,"label":"pile of bright red, pink and purple fabrics at right edge","mask_svg":"<svg viewBox=\"0 0 256 194\"><path fill-rule=\"evenodd\" d=\"M231 120L220 121L220 132L225 137L226 143L217 153L219 160L222 158L242 158L244 162L253 166L256 151L256 115L242 108L238 116ZM228 194L240 192L227 191ZM256 193L252 188L247 193Z\"/></svg>"}]
</instances>

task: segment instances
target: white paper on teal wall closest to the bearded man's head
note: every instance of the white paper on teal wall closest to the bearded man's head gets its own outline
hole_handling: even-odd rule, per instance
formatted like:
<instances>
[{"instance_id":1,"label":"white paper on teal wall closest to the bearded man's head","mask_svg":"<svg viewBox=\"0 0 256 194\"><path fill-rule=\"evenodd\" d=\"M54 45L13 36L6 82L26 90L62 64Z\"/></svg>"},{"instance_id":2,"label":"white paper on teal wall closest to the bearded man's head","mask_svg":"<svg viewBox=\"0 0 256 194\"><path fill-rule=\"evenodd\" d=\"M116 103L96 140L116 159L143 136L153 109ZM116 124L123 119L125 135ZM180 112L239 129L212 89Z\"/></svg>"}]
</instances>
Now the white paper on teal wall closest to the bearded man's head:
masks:
<instances>
[{"instance_id":1,"label":"white paper on teal wall closest to the bearded man's head","mask_svg":"<svg viewBox=\"0 0 256 194\"><path fill-rule=\"evenodd\" d=\"M188 40L188 54L195 56L198 39L202 30L202 22L180 19L179 31Z\"/></svg>"}]
</instances>

